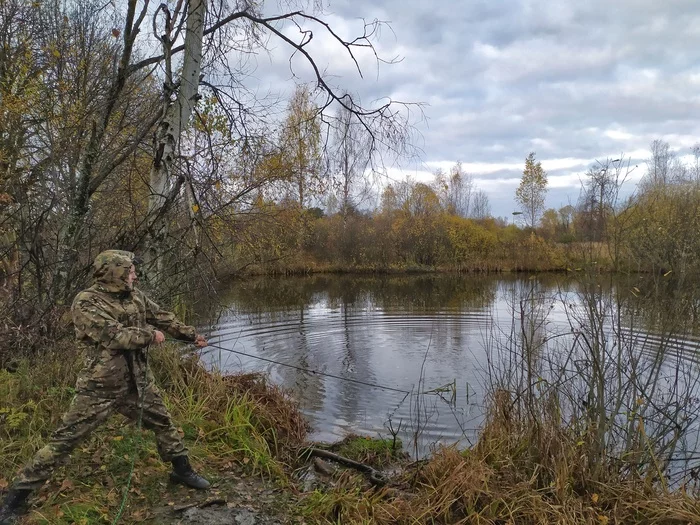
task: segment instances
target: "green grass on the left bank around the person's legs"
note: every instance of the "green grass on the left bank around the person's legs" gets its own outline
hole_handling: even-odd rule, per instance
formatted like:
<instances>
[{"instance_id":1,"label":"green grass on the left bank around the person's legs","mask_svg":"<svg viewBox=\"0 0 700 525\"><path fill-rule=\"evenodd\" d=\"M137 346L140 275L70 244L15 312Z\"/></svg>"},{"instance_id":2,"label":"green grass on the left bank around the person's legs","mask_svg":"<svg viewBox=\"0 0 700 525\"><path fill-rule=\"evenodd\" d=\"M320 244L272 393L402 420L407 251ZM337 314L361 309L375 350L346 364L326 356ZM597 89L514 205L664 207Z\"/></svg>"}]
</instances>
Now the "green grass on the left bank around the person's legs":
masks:
<instances>
[{"instance_id":1,"label":"green grass on the left bank around the person's legs","mask_svg":"<svg viewBox=\"0 0 700 525\"><path fill-rule=\"evenodd\" d=\"M196 356L163 346L149 359L173 420L195 465L226 485L232 470L288 482L287 464L306 435L297 405L260 375L224 376ZM74 347L55 348L0 370L0 489L46 441L73 395L82 364ZM149 432L115 415L72 454L33 501L31 523L110 523L121 503L132 456L137 463L121 523L139 523L154 505L173 498L164 483L169 465Z\"/></svg>"}]
</instances>

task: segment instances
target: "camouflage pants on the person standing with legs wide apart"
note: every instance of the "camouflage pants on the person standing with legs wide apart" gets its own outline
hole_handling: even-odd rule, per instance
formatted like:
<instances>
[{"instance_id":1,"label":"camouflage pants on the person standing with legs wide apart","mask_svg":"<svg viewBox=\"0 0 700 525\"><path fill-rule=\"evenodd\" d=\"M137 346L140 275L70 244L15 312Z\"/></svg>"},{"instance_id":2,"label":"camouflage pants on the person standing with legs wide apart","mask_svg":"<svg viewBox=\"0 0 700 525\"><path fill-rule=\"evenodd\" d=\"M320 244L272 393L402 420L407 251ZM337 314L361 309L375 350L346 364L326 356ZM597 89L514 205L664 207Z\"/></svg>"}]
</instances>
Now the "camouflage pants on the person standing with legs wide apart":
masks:
<instances>
[{"instance_id":1,"label":"camouflage pants on the person standing with legs wide apart","mask_svg":"<svg viewBox=\"0 0 700 525\"><path fill-rule=\"evenodd\" d=\"M15 479L14 488L36 489L51 477L52 471L68 459L70 452L114 412L137 421L140 399L136 392L116 398L96 397L79 392L63 416L62 424L51 435L32 461ZM163 461L187 455L182 438L173 426L168 409L155 386L145 387L142 425L156 435L158 453Z\"/></svg>"}]
</instances>

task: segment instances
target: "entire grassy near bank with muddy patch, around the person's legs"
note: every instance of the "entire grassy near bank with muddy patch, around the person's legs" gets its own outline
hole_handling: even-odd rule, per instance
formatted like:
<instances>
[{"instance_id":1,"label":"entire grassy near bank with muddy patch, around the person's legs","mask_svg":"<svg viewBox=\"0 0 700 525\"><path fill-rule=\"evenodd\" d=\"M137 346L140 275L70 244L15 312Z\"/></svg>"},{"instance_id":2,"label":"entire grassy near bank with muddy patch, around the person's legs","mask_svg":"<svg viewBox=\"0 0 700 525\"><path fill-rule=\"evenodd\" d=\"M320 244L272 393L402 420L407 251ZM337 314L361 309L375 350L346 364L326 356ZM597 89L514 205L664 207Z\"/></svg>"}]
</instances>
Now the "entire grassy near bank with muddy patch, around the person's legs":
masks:
<instances>
[{"instance_id":1,"label":"entire grassy near bank with muddy patch, around the person's legs","mask_svg":"<svg viewBox=\"0 0 700 525\"><path fill-rule=\"evenodd\" d=\"M0 488L56 426L80 357L55 348L0 371ZM629 468L653 458L594 454L597 429L566 422L551 392L493 389L475 446L414 461L398 440L308 443L298 406L264 376L207 371L175 346L150 358L213 488L170 485L152 436L115 416L36 494L23 523L114 523L120 510L119 523L700 523L696 475L670 484ZM635 447L653 444L638 439L628 454Z\"/></svg>"}]
</instances>

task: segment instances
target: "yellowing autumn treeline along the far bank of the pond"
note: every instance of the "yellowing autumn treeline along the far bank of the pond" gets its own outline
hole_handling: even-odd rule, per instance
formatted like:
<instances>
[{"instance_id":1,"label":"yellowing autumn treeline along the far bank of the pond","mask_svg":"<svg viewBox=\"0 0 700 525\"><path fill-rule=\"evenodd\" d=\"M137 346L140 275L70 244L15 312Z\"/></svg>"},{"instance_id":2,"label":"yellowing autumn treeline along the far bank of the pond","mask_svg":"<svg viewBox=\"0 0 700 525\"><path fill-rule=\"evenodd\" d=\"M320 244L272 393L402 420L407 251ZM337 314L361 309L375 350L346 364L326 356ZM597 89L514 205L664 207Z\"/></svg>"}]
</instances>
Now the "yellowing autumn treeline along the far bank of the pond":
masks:
<instances>
[{"instance_id":1,"label":"yellowing autumn treeline along the far bank of the pond","mask_svg":"<svg viewBox=\"0 0 700 525\"><path fill-rule=\"evenodd\" d=\"M700 273L700 146L683 161L654 141L641 165L608 159L582 175L578 201L544 209L547 175L531 153L512 218L494 218L487 195L457 163L433 183L350 194L340 171L327 206L263 200L240 221L229 261L259 272L600 271ZM639 183L637 175L643 170ZM360 185L367 180L358 178ZM632 191L634 190L634 191ZM368 202L377 202L368 206ZM276 220L275 220L276 219ZM241 233L243 236L241 236ZM224 237L221 238L222 243Z\"/></svg>"}]
</instances>

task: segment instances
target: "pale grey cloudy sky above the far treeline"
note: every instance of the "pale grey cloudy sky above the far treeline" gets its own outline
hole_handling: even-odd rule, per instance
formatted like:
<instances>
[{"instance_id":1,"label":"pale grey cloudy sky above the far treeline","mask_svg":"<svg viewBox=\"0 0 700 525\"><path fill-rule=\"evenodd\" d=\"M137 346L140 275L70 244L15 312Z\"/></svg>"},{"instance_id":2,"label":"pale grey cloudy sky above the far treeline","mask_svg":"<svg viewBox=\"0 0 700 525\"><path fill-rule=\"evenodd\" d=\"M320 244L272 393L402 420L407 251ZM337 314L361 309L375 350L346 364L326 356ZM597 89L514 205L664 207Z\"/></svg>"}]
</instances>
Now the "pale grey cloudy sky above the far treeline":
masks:
<instances>
[{"instance_id":1,"label":"pale grey cloudy sky above the far treeline","mask_svg":"<svg viewBox=\"0 0 700 525\"><path fill-rule=\"evenodd\" d=\"M492 204L510 215L530 151L549 173L547 205L576 202L583 173L621 154L644 173L649 143L679 155L700 141L700 2L697 0L326 0L324 19L344 37L362 18L390 22L364 79L318 28L310 51L336 85L363 102L426 103L422 158L390 169L428 180L461 161ZM293 28L285 32L294 34ZM315 47L313 47L315 46ZM290 80L288 50L258 60L261 84ZM300 59L292 67L308 73ZM631 188L630 188L631 191Z\"/></svg>"}]
</instances>

